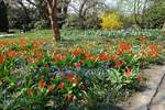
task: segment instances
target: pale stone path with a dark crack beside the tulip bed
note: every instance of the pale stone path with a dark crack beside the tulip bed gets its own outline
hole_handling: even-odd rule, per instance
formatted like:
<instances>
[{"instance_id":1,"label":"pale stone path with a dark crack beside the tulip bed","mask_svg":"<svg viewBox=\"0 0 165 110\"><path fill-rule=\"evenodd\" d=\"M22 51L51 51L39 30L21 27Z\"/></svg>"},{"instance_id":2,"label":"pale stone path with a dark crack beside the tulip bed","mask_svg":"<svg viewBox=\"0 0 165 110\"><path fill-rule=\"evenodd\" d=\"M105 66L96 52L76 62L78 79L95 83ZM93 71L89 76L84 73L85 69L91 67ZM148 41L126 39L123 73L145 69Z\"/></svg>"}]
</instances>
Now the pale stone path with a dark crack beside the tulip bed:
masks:
<instances>
[{"instance_id":1,"label":"pale stone path with a dark crack beside the tulip bed","mask_svg":"<svg viewBox=\"0 0 165 110\"><path fill-rule=\"evenodd\" d=\"M165 110L165 65L150 66L142 74L146 85L122 103L124 110Z\"/></svg>"}]
</instances>

